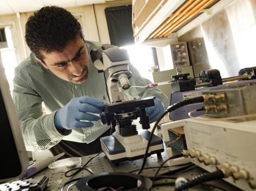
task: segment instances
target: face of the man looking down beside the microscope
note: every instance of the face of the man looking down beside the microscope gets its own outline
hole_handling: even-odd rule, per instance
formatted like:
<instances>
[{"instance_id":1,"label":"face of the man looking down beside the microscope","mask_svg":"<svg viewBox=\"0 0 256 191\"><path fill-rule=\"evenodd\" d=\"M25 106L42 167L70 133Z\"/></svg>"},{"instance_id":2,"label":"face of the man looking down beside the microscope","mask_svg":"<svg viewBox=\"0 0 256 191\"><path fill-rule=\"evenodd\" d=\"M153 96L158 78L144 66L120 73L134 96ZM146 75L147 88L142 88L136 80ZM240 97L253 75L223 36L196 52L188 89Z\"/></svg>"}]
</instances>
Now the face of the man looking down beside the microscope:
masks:
<instances>
[{"instance_id":1,"label":"face of the man looking down beside the microscope","mask_svg":"<svg viewBox=\"0 0 256 191\"><path fill-rule=\"evenodd\" d=\"M75 84L81 84L87 79L89 55L82 38L74 39L61 52L42 52L42 55L45 64L37 57L36 60L57 77Z\"/></svg>"}]
</instances>

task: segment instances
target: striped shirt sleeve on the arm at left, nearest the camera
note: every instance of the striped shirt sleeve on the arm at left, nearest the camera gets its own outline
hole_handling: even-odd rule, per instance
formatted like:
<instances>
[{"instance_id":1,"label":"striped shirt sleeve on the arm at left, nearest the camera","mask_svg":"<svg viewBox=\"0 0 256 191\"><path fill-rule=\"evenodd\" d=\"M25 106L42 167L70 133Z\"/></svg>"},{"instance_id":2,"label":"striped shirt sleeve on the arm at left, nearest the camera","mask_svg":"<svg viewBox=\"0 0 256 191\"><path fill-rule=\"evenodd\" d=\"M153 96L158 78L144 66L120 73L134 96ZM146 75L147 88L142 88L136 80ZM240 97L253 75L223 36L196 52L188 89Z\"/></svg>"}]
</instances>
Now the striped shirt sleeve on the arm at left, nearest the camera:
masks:
<instances>
[{"instance_id":1,"label":"striped shirt sleeve on the arm at left, nearest the camera","mask_svg":"<svg viewBox=\"0 0 256 191\"><path fill-rule=\"evenodd\" d=\"M28 78L19 68L14 70L13 83L13 102L26 150L39 152L50 149L71 133L66 129L62 133L57 131L54 125L56 111L43 115L43 99L29 86Z\"/></svg>"}]
</instances>

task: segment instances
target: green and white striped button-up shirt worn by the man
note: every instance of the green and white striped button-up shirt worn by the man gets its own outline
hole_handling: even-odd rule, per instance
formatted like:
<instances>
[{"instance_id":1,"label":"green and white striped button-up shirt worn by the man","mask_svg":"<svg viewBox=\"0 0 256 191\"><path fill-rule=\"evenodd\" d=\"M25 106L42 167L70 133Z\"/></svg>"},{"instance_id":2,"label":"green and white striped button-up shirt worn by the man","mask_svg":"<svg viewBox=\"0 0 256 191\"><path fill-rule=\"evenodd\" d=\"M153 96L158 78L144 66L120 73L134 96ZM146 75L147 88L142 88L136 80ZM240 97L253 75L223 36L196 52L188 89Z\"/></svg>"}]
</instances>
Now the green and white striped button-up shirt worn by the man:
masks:
<instances>
[{"instance_id":1,"label":"green and white striped button-up shirt worn by the man","mask_svg":"<svg viewBox=\"0 0 256 191\"><path fill-rule=\"evenodd\" d=\"M100 42L85 42L88 53L103 45ZM88 79L82 84L73 84L55 76L34 57L35 55L31 53L30 57L15 68L13 79L13 101L28 151L47 150L62 139L90 143L110 128L110 126L101 125L98 121L94 122L93 127L65 129L62 134L59 133L54 126L54 114L72 98L89 96L101 101L104 101L103 97L107 98L104 74L97 73L97 68L90 58ZM133 65L129 65L129 69L133 74L129 80L131 86L145 86L152 83L142 78ZM108 77L108 73L106 73L106 77ZM167 108L168 98L157 87L132 87L124 92L125 99L149 96L161 99L165 109ZM109 103L108 98L106 101ZM42 103L45 105L46 115L43 115Z\"/></svg>"}]
</instances>

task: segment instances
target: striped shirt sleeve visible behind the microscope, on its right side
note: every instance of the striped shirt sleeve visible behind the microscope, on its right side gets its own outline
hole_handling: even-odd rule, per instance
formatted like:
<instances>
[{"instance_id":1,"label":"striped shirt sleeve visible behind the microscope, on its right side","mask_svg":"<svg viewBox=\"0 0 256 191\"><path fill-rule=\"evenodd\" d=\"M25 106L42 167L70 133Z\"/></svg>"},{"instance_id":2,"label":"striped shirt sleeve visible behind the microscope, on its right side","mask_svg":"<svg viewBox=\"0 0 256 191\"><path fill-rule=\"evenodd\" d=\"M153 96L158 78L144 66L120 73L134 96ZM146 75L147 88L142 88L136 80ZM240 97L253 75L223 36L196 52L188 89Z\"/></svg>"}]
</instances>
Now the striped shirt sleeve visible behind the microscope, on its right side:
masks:
<instances>
[{"instance_id":1,"label":"striped shirt sleeve visible behind the microscope, on its right side","mask_svg":"<svg viewBox=\"0 0 256 191\"><path fill-rule=\"evenodd\" d=\"M152 82L146 78L143 78L132 64L129 65L129 70L132 73L132 78L129 80L131 87L124 92L125 99L132 99L134 97L139 99L155 96L161 100L165 109L167 109L169 106L169 99L158 87L132 87L147 86L152 84Z\"/></svg>"}]
</instances>

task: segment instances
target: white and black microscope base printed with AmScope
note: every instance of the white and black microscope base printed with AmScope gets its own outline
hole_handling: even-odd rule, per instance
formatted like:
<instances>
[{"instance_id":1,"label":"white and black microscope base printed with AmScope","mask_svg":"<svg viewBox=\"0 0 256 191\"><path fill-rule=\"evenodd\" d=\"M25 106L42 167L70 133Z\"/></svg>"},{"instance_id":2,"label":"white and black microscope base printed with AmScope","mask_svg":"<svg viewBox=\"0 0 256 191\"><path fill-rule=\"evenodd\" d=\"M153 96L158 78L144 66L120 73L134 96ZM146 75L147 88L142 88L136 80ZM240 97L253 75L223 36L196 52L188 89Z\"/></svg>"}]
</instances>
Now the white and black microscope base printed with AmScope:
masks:
<instances>
[{"instance_id":1,"label":"white and black microscope base printed with AmScope","mask_svg":"<svg viewBox=\"0 0 256 191\"><path fill-rule=\"evenodd\" d=\"M131 144L124 144L112 135L101 138L102 150L111 163L126 160L132 161L144 157L150 132L147 130L138 131L143 140ZM153 135L147 157L151 154L160 154L161 152L164 152L163 139Z\"/></svg>"}]
</instances>

